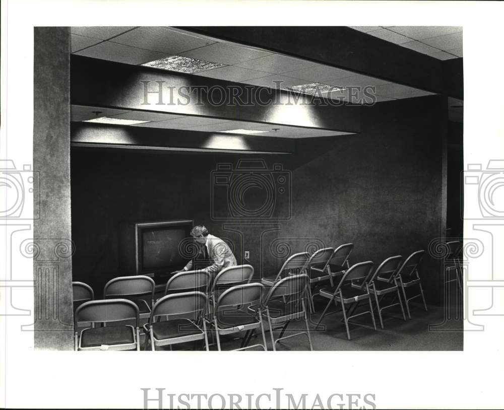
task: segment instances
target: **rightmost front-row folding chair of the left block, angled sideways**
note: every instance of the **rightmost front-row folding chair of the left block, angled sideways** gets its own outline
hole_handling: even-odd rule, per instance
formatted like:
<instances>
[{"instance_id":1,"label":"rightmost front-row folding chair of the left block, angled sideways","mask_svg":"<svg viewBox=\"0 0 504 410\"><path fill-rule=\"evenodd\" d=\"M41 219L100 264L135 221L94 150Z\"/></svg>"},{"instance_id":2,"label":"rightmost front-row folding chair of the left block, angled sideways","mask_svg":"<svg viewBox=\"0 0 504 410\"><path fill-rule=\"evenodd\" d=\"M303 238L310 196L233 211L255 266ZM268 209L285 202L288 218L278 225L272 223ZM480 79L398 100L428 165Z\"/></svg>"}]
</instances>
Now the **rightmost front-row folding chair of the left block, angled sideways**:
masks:
<instances>
[{"instance_id":1,"label":"rightmost front-row folding chair of the left block, angled sideways","mask_svg":"<svg viewBox=\"0 0 504 410\"><path fill-rule=\"evenodd\" d=\"M268 295L264 299L264 302L259 306L259 308L261 308L263 312L266 312L266 320L268 320L268 325L270 327L273 351L276 351L276 344L280 340L299 336L301 334L306 334L306 337L308 337L310 350L313 351L310 329L308 327L308 316L306 313L306 306L304 304L304 295L306 293L306 288L308 287L309 278L306 274L290 276L288 278L281 279L275 285L273 285L273 288L271 288L271 290L269 291ZM250 309L254 311L259 310L257 306L251 306ZM295 319L304 320L306 331L283 336L290 321ZM275 325L283 325L280 335L276 339L273 334Z\"/></svg>"}]
</instances>

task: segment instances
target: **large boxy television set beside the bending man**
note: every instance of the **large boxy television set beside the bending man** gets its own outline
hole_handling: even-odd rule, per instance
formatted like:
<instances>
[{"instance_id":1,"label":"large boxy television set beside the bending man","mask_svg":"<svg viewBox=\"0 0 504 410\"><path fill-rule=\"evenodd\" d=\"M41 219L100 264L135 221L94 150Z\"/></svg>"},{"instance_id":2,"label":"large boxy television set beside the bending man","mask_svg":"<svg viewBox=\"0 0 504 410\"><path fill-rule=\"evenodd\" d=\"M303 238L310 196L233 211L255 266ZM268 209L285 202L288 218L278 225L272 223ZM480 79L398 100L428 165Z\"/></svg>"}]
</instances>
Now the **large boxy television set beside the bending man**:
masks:
<instances>
[{"instance_id":1,"label":"large boxy television set beside the bending man","mask_svg":"<svg viewBox=\"0 0 504 410\"><path fill-rule=\"evenodd\" d=\"M167 274L191 259L192 220L122 224L121 269L127 275Z\"/></svg>"}]
</instances>

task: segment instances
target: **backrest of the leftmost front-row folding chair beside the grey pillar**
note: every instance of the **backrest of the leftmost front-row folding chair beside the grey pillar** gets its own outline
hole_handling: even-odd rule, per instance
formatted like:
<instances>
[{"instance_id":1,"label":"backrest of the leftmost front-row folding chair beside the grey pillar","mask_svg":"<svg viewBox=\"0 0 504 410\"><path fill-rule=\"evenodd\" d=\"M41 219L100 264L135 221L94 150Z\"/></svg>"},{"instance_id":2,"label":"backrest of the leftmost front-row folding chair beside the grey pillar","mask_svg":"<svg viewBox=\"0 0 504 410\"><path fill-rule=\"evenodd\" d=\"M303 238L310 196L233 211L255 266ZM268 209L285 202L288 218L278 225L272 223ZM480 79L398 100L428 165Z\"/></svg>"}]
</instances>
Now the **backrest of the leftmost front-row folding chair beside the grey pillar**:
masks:
<instances>
[{"instance_id":1,"label":"backrest of the leftmost front-row folding chair beside the grey pillar","mask_svg":"<svg viewBox=\"0 0 504 410\"><path fill-rule=\"evenodd\" d=\"M117 322L136 320L139 325L138 306L128 299L91 300L80 305L74 315L74 325L78 322Z\"/></svg>"}]
</instances>

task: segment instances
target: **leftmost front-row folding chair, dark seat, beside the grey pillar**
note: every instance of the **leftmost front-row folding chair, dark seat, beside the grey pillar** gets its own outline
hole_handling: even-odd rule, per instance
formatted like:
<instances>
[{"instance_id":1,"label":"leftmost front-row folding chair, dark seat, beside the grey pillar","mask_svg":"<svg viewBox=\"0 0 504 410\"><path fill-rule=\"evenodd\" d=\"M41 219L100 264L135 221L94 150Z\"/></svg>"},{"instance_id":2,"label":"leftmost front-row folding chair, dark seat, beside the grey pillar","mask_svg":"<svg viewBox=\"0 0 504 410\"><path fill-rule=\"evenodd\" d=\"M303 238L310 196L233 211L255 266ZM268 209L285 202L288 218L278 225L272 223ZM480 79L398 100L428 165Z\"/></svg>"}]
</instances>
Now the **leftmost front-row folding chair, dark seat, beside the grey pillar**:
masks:
<instances>
[{"instance_id":1,"label":"leftmost front-row folding chair, dark seat, beside the grey pillar","mask_svg":"<svg viewBox=\"0 0 504 410\"><path fill-rule=\"evenodd\" d=\"M81 350L140 350L138 306L128 299L104 299L84 302L74 315L74 328L78 322L119 322L135 319L131 325L91 327L74 333L74 348Z\"/></svg>"}]
</instances>

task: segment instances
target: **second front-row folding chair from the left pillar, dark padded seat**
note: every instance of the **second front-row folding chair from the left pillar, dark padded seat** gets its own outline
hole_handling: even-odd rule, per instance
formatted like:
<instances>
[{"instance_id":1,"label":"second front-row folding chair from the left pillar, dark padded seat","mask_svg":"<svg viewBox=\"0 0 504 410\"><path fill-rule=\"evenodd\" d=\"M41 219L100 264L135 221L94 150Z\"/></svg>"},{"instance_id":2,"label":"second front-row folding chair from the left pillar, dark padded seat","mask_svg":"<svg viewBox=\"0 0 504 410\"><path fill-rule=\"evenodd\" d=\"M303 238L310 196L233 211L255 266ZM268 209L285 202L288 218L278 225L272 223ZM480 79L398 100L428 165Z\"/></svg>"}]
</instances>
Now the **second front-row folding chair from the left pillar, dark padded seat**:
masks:
<instances>
[{"instance_id":1,"label":"second front-row folding chair from the left pillar, dark padded seat","mask_svg":"<svg viewBox=\"0 0 504 410\"><path fill-rule=\"evenodd\" d=\"M163 296L152 308L149 323L144 325L145 348L149 340L151 349L188 341L205 340L208 351L207 327L204 320L208 297L203 292L173 293ZM156 321L159 316L167 320ZM200 327L200 325L203 327Z\"/></svg>"}]
</instances>

